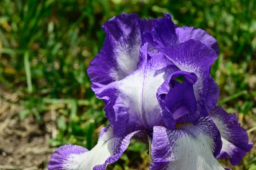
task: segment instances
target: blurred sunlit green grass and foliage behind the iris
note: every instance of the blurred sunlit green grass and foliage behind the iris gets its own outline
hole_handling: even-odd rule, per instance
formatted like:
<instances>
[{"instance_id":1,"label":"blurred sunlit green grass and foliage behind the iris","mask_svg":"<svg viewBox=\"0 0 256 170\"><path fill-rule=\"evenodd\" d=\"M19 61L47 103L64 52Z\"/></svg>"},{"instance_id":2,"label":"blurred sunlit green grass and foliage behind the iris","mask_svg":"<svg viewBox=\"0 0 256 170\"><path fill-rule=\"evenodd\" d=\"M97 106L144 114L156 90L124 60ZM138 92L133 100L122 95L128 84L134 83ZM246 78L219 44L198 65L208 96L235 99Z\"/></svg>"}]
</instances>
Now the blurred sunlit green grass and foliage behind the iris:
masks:
<instances>
[{"instance_id":1,"label":"blurred sunlit green grass and foliage behind the iris","mask_svg":"<svg viewBox=\"0 0 256 170\"><path fill-rule=\"evenodd\" d=\"M255 0L2 0L0 82L19 96L20 119L33 114L44 124L42 115L57 111L58 134L50 145L90 149L108 125L86 69L105 39L101 24L122 12L146 19L170 13L178 26L215 37L220 54L211 74L221 90L219 104L255 119ZM146 169L146 150L133 142L109 169ZM250 154L239 167L256 169L255 150Z\"/></svg>"}]
</instances>

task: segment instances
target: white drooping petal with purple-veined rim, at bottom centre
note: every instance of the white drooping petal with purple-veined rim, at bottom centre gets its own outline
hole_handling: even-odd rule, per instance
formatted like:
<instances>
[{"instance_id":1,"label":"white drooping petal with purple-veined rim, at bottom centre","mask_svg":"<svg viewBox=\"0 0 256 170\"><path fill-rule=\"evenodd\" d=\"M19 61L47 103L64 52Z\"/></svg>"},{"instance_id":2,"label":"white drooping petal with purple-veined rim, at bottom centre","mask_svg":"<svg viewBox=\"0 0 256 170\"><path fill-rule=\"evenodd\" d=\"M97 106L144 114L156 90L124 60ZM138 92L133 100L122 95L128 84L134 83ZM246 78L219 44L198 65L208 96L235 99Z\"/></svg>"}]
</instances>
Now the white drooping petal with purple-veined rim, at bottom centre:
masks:
<instances>
[{"instance_id":1,"label":"white drooping petal with purple-veined rim, at bottom centre","mask_svg":"<svg viewBox=\"0 0 256 170\"><path fill-rule=\"evenodd\" d=\"M221 135L209 117L176 126L154 127L150 170L224 170L215 159Z\"/></svg>"}]
</instances>

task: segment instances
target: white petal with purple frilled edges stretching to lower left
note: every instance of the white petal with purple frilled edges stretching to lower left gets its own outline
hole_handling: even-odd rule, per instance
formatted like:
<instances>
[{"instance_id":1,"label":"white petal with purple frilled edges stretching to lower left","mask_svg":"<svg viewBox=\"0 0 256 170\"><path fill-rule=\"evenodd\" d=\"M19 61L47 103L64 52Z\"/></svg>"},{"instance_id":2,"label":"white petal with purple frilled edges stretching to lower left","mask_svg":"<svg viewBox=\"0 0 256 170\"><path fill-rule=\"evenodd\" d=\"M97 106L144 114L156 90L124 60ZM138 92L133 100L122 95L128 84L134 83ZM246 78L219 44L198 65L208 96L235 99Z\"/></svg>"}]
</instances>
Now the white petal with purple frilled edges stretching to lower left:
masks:
<instances>
[{"instance_id":1,"label":"white petal with purple frilled edges stretching to lower left","mask_svg":"<svg viewBox=\"0 0 256 170\"><path fill-rule=\"evenodd\" d=\"M116 138L113 128L99 138L98 144L88 151L84 147L67 144L59 147L52 154L48 163L49 170L105 170L108 164L115 162L127 149L134 135L140 136L142 131L134 131L126 136Z\"/></svg>"}]
</instances>

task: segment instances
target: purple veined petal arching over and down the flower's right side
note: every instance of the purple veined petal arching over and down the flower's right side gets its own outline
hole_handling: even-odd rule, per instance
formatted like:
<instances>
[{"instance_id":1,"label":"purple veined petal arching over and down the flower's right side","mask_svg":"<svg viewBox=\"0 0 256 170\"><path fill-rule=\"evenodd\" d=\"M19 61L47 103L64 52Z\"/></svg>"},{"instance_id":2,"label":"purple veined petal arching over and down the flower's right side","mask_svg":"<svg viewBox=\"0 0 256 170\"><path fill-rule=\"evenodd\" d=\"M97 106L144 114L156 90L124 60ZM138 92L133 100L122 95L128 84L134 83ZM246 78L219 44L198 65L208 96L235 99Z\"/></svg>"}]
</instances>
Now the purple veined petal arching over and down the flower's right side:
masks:
<instances>
[{"instance_id":1,"label":"purple veined petal arching over and down the flower's right side","mask_svg":"<svg viewBox=\"0 0 256 170\"><path fill-rule=\"evenodd\" d=\"M193 72L198 77L193 85L197 100L197 114L207 116L214 108L219 96L219 89L209 75L209 67L218 57L212 48L195 40L189 40L179 45L171 45L160 49L181 70Z\"/></svg>"}]
</instances>

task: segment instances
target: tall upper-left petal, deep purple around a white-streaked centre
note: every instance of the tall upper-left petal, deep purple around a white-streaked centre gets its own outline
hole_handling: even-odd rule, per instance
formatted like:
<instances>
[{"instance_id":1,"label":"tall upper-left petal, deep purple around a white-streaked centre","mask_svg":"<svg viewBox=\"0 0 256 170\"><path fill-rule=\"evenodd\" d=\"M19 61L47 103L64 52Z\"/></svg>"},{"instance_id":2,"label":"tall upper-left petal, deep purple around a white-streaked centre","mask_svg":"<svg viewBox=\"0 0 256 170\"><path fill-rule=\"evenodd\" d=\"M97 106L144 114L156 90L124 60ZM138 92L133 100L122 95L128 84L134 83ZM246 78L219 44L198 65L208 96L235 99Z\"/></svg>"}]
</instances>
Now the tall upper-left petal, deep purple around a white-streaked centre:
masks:
<instances>
[{"instance_id":1,"label":"tall upper-left petal, deep purple around a white-streaked centre","mask_svg":"<svg viewBox=\"0 0 256 170\"><path fill-rule=\"evenodd\" d=\"M120 14L102 25L106 38L101 51L90 62L92 82L107 85L137 70L142 46L142 20L137 14Z\"/></svg>"}]
</instances>

